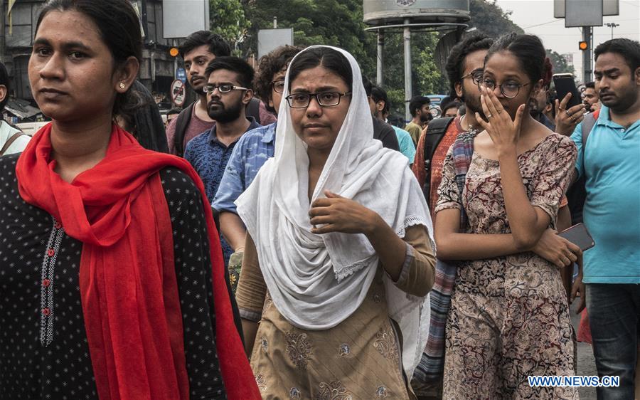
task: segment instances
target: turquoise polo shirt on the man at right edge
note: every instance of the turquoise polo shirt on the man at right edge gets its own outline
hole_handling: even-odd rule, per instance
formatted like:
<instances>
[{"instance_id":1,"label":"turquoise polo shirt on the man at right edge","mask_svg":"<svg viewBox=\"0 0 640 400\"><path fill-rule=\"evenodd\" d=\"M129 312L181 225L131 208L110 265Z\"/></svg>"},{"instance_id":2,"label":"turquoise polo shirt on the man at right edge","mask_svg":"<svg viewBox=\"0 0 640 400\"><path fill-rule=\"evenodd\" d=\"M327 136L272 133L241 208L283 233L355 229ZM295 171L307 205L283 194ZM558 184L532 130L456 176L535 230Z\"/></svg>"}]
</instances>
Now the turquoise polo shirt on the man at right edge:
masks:
<instances>
[{"instance_id":1,"label":"turquoise polo shirt on the man at right edge","mask_svg":"<svg viewBox=\"0 0 640 400\"><path fill-rule=\"evenodd\" d=\"M624 128L602 107L582 149L582 123L571 135L575 168L586 177L582 219L595 246L584 253L585 283L640 283L640 120Z\"/></svg>"}]
</instances>

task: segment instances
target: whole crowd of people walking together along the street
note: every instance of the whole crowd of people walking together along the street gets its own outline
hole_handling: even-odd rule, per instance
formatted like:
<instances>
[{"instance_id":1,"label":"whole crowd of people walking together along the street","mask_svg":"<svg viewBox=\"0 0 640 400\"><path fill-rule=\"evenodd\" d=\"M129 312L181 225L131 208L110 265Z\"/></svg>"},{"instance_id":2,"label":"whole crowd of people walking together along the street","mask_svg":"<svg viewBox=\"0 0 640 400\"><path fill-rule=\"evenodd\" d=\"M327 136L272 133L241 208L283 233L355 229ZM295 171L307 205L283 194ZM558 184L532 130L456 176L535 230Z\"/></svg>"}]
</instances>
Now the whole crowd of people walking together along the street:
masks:
<instances>
[{"instance_id":1,"label":"whole crowd of people walking together along the street","mask_svg":"<svg viewBox=\"0 0 640 400\"><path fill-rule=\"evenodd\" d=\"M0 126L0 398L577 399L528 381L577 374L574 300L598 398L640 398L638 42L567 107L540 38L470 33L400 129L341 48L254 70L197 31L166 132L129 1L50 0L33 43L52 122Z\"/></svg>"}]
</instances>

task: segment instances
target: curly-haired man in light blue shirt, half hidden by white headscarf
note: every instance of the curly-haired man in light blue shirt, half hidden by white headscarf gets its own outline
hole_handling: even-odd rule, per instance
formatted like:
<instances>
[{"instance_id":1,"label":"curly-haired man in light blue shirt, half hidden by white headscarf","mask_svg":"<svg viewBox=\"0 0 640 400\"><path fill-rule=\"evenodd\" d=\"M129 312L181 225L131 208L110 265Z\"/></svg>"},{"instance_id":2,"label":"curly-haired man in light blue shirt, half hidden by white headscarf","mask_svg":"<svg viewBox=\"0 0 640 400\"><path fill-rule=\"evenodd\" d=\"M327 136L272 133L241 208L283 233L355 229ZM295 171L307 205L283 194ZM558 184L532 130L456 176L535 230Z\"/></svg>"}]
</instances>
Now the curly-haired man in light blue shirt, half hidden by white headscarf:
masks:
<instances>
[{"instance_id":1,"label":"curly-haired man in light blue shirt, half hidden by white headscarf","mask_svg":"<svg viewBox=\"0 0 640 400\"><path fill-rule=\"evenodd\" d=\"M276 114L282 102L284 75L287 66L302 48L280 46L260 58L255 77L255 92ZM233 248L229 259L229 278L235 293L240 278L240 266L245 249L247 230L238 216L235 200L249 187L258 170L273 157L277 122L258 127L240 137L235 144L231 158L225 169L218 193L213 199L213 209L220 213L220 232Z\"/></svg>"}]
</instances>

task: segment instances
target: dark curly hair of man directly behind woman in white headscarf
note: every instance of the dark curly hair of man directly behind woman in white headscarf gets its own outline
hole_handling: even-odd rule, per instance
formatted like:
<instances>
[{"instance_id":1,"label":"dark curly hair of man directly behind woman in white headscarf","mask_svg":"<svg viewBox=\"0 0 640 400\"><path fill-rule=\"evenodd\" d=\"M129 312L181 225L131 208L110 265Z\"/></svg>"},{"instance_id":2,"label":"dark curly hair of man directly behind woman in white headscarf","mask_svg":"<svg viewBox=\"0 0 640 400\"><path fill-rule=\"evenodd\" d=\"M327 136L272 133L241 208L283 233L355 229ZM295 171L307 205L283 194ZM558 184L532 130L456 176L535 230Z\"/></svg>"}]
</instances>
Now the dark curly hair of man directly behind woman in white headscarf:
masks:
<instances>
[{"instance_id":1,"label":"dark curly hair of man directly behind woman in white headscarf","mask_svg":"<svg viewBox=\"0 0 640 400\"><path fill-rule=\"evenodd\" d=\"M302 46L280 46L260 58L253 86L255 88L255 94L265 103L267 110L274 111L272 107L269 106L269 100L273 100L271 95L271 82L273 77L281 70L287 68L291 59L302 51L303 48Z\"/></svg>"}]
</instances>

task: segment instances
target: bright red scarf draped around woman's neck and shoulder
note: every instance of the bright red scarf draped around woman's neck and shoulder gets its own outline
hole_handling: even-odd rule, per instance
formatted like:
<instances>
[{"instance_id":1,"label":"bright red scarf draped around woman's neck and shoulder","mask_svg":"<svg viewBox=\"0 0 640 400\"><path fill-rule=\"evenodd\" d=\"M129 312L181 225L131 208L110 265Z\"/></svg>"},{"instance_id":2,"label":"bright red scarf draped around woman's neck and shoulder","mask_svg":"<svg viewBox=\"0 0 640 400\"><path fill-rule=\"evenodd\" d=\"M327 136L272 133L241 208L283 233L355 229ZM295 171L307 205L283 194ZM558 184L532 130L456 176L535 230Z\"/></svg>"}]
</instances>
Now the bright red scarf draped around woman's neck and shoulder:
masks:
<instances>
[{"instance_id":1,"label":"bright red scarf draped around woman's neck and shoulder","mask_svg":"<svg viewBox=\"0 0 640 400\"><path fill-rule=\"evenodd\" d=\"M114 125L105 158L69 184L54 172L50 133L50 124L38 131L18 159L18 188L83 243L80 295L100 399L189 398L171 218L158 173L166 167L181 169L202 194L228 398L260 399L233 322L211 207L191 165L143 149Z\"/></svg>"}]
</instances>

